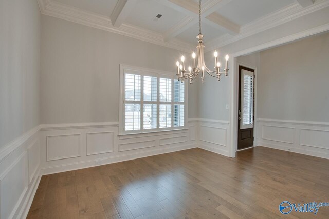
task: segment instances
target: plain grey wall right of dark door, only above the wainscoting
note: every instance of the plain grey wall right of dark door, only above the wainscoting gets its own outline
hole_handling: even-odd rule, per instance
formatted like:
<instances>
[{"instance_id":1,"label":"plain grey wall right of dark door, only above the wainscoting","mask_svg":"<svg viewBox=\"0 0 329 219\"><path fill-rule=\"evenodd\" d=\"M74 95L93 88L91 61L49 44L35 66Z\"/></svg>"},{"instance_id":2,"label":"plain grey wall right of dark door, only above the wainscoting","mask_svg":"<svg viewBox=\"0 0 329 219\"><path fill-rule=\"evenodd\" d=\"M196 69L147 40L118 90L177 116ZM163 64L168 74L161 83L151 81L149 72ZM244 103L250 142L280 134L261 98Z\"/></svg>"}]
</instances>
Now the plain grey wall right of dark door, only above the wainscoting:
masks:
<instances>
[{"instance_id":1,"label":"plain grey wall right of dark door, only above the wainscoting","mask_svg":"<svg viewBox=\"0 0 329 219\"><path fill-rule=\"evenodd\" d=\"M258 118L329 122L329 33L261 52Z\"/></svg>"}]
</instances>

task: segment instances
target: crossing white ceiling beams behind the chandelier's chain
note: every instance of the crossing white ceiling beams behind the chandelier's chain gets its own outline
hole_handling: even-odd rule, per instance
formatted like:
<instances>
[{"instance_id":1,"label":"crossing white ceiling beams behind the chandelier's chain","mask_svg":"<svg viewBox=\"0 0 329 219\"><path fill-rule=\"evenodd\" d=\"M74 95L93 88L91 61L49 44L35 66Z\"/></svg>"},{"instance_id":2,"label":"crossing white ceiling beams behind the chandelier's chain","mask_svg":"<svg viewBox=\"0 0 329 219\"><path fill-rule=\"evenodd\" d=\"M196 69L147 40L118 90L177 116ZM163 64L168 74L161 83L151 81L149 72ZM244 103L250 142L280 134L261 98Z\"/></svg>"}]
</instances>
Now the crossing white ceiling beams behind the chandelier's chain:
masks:
<instances>
[{"instance_id":1,"label":"crossing white ceiling beams behind the chandelier's chain","mask_svg":"<svg viewBox=\"0 0 329 219\"><path fill-rule=\"evenodd\" d=\"M198 23L199 19L199 4L193 0L155 0L162 5L166 5L176 11L184 13L190 18L185 17L169 30L163 33L165 41L179 35L188 28ZM230 35L236 35L240 31L240 26L230 21L229 19L217 14L215 11L226 5L232 0L209 0L202 4L202 18L205 23L210 26L220 29Z\"/></svg>"}]
</instances>

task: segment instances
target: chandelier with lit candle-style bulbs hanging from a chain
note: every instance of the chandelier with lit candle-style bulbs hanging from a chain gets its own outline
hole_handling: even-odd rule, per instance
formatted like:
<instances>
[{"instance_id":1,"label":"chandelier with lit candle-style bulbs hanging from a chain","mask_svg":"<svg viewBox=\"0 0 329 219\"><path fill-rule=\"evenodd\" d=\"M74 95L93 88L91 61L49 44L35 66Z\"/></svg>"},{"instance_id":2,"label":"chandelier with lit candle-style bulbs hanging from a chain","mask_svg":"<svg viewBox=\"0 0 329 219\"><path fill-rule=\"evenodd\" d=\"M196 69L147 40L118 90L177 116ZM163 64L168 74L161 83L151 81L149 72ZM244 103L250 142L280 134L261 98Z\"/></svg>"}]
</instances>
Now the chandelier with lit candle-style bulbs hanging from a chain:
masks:
<instances>
[{"instance_id":1,"label":"chandelier with lit candle-style bulbs hanging from a chain","mask_svg":"<svg viewBox=\"0 0 329 219\"><path fill-rule=\"evenodd\" d=\"M183 82L185 79L189 79L190 80L190 84L192 84L192 81L197 77L197 75L201 72L202 73L202 83L205 83L205 71L212 77L216 77L218 81L221 81L221 74L225 73L225 76L227 76L227 72L228 72L228 55L225 56L225 69L224 72L221 72L221 63L218 62L218 53L217 51L214 52L214 56L215 56L215 67L213 71L209 70L206 66L205 63L205 45L203 43L202 38L204 37L204 35L202 35L201 33L201 0L199 1L199 34L196 36L196 38L198 39L197 41L197 66L196 66L196 61L195 61L195 57L196 54L192 53L192 67L189 66L188 70L189 72L187 72L186 68L185 68L185 57L184 55L181 56L180 60L181 63L176 62L177 65L177 77L178 77L178 81Z\"/></svg>"}]
</instances>

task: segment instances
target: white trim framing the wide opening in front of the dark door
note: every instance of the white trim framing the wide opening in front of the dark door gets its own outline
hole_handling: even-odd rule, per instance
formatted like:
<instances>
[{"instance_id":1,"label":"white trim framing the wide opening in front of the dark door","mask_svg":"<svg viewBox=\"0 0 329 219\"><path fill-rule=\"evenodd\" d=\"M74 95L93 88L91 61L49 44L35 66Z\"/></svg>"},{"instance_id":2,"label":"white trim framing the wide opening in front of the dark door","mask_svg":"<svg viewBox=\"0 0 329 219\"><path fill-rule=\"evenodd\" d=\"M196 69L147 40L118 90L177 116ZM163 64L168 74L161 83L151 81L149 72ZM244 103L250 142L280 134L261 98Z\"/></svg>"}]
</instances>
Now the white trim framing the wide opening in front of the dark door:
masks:
<instances>
[{"instance_id":1,"label":"white trim framing the wide opening in front of the dark door","mask_svg":"<svg viewBox=\"0 0 329 219\"><path fill-rule=\"evenodd\" d=\"M325 32L329 30L329 25L321 25L316 28L312 28L306 31L302 31L293 35L285 36L274 41L270 41L268 43L264 43L258 46L253 46L248 49L244 49L241 51L237 51L233 54L230 54L232 57L232 61L230 62L230 131L229 131L229 156L235 157L236 149L237 149L237 102L238 98L238 77L239 77L239 69L237 69L237 57L242 55L247 55L253 52L262 51L265 49L269 49L271 47L276 47L282 44L286 44L289 42L296 41L301 38L305 38L308 36L312 36L321 32ZM248 66L246 66L248 67Z\"/></svg>"}]
</instances>

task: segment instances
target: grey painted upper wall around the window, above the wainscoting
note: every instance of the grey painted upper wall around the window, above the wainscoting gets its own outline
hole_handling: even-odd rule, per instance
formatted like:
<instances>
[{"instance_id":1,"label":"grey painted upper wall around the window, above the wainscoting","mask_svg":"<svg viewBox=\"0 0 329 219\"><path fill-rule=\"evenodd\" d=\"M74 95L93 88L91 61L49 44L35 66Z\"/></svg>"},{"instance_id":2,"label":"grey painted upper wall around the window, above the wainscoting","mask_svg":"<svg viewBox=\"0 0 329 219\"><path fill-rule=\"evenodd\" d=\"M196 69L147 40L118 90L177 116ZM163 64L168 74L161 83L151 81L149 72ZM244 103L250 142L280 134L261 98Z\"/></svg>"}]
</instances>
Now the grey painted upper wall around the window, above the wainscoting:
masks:
<instances>
[{"instance_id":1,"label":"grey painted upper wall around the window, above the wainscoting","mask_svg":"<svg viewBox=\"0 0 329 219\"><path fill-rule=\"evenodd\" d=\"M119 64L175 74L182 54L45 15L41 45L42 124L118 121ZM197 98L189 103L189 117L197 104Z\"/></svg>"}]
</instances>

